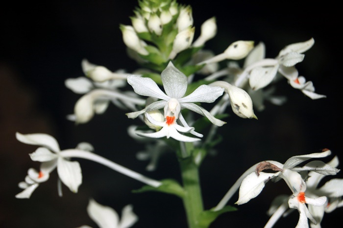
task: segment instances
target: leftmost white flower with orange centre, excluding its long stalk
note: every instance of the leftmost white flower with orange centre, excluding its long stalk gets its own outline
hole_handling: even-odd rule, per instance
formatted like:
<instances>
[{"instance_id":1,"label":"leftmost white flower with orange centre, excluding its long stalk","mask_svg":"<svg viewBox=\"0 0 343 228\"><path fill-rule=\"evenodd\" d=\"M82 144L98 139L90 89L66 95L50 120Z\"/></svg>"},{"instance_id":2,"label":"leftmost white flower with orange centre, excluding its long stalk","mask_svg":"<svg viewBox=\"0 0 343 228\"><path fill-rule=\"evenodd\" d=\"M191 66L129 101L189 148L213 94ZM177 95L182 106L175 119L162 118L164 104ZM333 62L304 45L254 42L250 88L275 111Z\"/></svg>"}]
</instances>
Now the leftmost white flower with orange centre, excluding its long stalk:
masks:
<instances>
[{"instance_id":1,"label":"leftmost white flower with orange centre, excluding its long stalk","mask_svg":"<svg viewBox=\"0 0 343 228\"><path fill-rule=\"evenodd\" d=\"M59 179L74 193L77 193L78 187L82 183L82 174L80 164L77 161L70 161L61 156L60 147L55 138L48 134L21 134L16 133L16 138L22 143L29 145L42 146L39 147L35 152L30 153L30 157L33 161L40 161L41 170L37 172L30 169L28 172L29 181L30 179L35 183L46 181L49 178L49 173L57 167L57 173ZM38 184L32 183L27 186L24 191L26 193L18 194L17 198L29 198L31 193Z\"/></svg>"}]
</instances>

